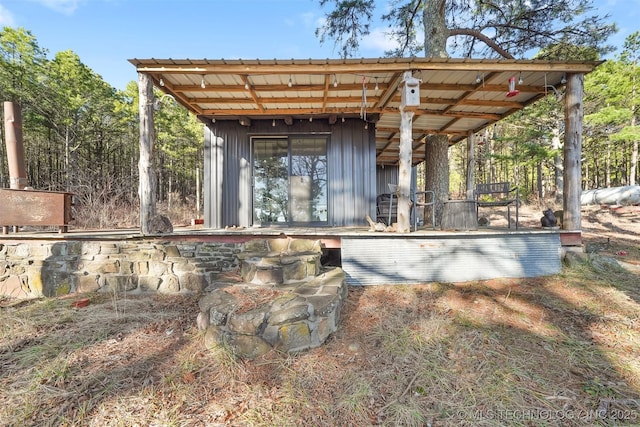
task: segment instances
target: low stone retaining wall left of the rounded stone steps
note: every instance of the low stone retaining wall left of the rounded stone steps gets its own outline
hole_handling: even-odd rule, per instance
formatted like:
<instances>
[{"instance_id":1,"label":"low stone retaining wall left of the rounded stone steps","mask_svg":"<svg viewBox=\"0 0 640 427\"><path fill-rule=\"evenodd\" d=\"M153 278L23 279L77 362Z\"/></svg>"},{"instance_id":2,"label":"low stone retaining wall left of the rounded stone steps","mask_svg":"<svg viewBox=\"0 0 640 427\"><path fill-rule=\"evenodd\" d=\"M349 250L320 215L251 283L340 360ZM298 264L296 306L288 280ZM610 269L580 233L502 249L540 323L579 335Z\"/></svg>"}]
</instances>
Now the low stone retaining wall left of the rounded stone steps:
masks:
<instances>
[{"instance_id":1,"label":"low stone retaining wall left of the rounded stone steps","mask_svg":"<svg viewBox=\"0 0 640 427\"><path fill-rule=\"evenodd\" d=\"M3 241L0 296L72 292L202 291L216 273L239 268L244 243L172 241Z\"/></svg>"}]
</instances>

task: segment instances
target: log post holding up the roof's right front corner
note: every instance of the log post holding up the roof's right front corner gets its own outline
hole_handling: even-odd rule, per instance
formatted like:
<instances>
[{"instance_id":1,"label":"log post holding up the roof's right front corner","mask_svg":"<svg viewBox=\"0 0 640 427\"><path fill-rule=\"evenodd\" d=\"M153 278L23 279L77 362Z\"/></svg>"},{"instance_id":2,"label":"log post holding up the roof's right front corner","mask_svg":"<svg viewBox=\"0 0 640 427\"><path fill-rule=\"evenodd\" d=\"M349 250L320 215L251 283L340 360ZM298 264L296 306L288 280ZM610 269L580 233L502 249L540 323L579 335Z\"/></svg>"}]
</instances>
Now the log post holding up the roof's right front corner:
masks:
<instances>
[{"instance_id":1,"label":"log post holding up the roof's right front corner","mask_svg":"<svg viewBox=\"0 0 640 427\"><path fill-rule=\"evenodd\" d=\"M565 134L564 134L564 214L562 228L579 231L582 229L580 196L582 195L582 119L583 119L584 75L567 76L565 94Z\"/></svg>"}]
</instances>

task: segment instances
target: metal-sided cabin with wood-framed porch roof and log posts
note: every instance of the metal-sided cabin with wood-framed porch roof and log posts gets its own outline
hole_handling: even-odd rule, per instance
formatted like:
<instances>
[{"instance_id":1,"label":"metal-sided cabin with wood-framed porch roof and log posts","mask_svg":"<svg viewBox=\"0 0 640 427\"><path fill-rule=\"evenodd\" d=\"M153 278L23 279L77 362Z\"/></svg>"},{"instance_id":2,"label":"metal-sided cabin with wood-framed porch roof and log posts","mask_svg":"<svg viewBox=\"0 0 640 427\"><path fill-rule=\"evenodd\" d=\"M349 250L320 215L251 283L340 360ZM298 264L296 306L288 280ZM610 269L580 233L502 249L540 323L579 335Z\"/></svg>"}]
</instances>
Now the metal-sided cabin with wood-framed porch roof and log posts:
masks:
<instances>
[{"instance_id":1,"label":"metal-sided cabin with wood-framed porch roof and log posts","mask_svg":"<svg viewBox=\"0 0 640 427\"><path fill-rule=\"evenodd\" d=\"M156 86L205 125L205 227L363 225L399 175L566 85L564 228L580 230L584 74L597 62L377 58L131 59L141 94L141 188L152 182ZM163 96L164 98L164 96ZM155 100L156 102L158 100ZM410 108L409 108L410 107ZM403 113L410 126L403 131ZM402 134L404 135L403 141ZM409 135L406 135L409 133ZM410 146L407 147L409 141ZM407 150L408 149L408 150ZM146 162L146 163L145 163ZM414 171L415 172L415 171ZM473 188L473 174L467 176ZM152 192L151 192L152 193ZM155 204L142 197L142 210ZM153 207L151 207L153 209ZM144 233L145 218L141 215Z\"/></svg>"}]
</instances>

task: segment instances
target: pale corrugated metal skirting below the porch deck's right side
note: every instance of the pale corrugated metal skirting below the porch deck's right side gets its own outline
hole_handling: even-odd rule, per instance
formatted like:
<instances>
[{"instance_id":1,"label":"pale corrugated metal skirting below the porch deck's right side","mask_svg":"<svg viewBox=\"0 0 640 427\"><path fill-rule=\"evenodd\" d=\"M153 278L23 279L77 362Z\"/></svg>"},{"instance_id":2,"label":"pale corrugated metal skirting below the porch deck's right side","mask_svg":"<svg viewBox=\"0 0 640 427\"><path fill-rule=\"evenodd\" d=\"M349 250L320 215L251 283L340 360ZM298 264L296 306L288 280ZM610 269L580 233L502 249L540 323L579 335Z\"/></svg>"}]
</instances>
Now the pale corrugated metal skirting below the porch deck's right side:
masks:
<instances>
[{"instance_id":1,"label":"pale corrugated metal skirting below the porch deck's right side","mask_svg":"<svg viewBox=\"0 0 640 427\"><path fill-rule=\"evenodd\" d=\"M557 233L342 239L350 285L465 282L557 274Z\"/></svg>"}]
</instances>

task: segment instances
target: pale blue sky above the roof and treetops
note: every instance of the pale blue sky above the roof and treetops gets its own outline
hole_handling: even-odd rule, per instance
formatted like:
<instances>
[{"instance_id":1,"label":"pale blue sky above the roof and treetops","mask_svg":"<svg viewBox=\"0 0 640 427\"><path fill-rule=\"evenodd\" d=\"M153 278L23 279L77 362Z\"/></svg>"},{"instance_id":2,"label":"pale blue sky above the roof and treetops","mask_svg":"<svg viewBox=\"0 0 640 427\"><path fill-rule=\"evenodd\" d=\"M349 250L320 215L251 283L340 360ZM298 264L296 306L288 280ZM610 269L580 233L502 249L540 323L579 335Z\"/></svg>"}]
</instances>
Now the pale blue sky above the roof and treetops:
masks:
<instances>
[{"instance_id":1,"label":"pale blue sky above the roof and treetops","mask_svg":"<svg viewBox=\"0 0 640 427\"><path fill-rule=\"evenodd\" d=\"M117 89L137 80L129 59L338 58L333 41L315 35L328 7L318 0L0 0L0 27L24 28L53 58L71 50ZM381 4L386 2L380 1ZM640 30L640 0L593 0L611 15L622 49ZM392 46L372 27L358 57ZM613 55L616 53L614 52Z\"/></svg>"}]
</instances>

